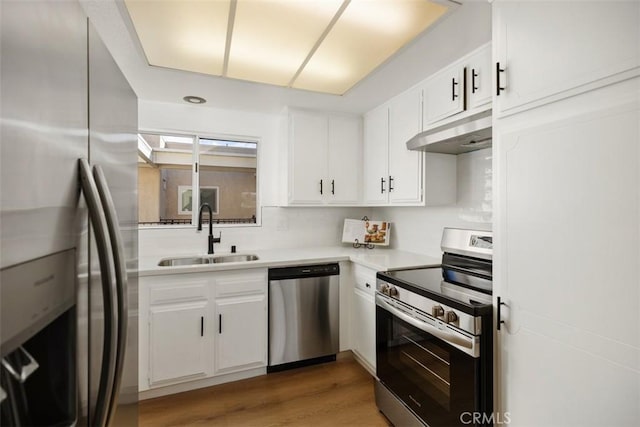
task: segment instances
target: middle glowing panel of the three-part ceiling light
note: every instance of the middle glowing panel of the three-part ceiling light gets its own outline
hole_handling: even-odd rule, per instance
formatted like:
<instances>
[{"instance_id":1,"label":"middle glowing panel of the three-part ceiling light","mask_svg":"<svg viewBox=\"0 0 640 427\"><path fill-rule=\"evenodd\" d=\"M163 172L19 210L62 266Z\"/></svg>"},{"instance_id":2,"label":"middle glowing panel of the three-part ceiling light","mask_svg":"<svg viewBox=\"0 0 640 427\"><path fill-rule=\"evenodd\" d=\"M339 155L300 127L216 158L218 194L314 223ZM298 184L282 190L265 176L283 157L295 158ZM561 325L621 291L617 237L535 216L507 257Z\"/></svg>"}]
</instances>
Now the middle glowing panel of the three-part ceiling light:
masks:
<instances>
[{"instance_id":1,"label":"middle glowing panel of the three-part ceiling light","mask_svg":"<svg viewBox=\"0 0 640 427\"><path fill-rule=\"evenodd\" d=\"M287 86L342 0L238 0L227 77Z\"/></svg>"}]
</instances>

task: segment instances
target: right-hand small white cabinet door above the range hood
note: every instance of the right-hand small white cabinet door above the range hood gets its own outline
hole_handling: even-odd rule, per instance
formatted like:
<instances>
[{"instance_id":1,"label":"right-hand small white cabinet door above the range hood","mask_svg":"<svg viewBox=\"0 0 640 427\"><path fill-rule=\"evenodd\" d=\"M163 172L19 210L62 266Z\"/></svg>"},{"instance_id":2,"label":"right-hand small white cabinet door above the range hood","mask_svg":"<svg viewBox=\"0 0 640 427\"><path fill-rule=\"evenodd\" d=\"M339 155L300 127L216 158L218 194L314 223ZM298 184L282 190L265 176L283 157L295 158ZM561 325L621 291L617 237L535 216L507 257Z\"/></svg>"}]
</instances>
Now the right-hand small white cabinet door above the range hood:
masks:
<instances>
[{"instance_id":1,"label":"right-hand small white cabinet door above the range hood","mask_svg":"<svg viewBox=\"0 0 640 427\"><path fill-rule=\"evenodd\" d=\"M467 108L491 102L493 96L491 45L476 52L467 62Z\"/></svg>"}]
</instances>

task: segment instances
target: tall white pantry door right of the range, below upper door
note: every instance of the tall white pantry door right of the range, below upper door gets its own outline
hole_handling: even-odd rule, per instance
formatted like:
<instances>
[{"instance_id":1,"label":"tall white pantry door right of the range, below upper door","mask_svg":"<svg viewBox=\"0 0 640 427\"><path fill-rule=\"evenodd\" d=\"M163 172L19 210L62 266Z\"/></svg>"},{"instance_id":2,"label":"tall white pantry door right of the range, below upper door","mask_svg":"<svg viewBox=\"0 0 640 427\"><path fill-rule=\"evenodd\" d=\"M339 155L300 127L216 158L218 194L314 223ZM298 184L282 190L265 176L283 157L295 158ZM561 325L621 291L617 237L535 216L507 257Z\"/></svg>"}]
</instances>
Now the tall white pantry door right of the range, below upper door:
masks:
<instances>
[{"instance_id":1,"label":"tall white pantry door right of the range, below upper door","mask_svg":"<svg viewBox=\"0 0 640 427\"><path fill-rule=\"evenodd\" d=\"M615 86L497 126L497 386L513 425L640 422L640 81Z\"/></svg>"}]
</instances>

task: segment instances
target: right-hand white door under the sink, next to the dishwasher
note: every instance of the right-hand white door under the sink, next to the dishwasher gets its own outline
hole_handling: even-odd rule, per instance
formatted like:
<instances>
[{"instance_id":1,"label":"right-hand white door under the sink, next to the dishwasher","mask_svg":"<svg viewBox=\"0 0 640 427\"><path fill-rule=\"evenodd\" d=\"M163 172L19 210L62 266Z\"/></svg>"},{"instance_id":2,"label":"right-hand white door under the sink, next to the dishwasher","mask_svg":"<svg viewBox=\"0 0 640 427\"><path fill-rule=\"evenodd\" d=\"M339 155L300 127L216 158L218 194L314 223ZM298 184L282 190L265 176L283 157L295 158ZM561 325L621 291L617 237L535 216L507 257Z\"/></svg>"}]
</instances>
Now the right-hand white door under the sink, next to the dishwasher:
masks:
<instances>
[{"instance_id":1,"label":"right-hand white door under the sink, next to the dishwasher","mask_svg":"<svg viewBox=\"0 0 640 427\"><path fill-rule=\"evenodd\" d=\"M264 295L222 298L215 303L216 373L267 364L267 304Z\"/></svg>"}]
</instances>

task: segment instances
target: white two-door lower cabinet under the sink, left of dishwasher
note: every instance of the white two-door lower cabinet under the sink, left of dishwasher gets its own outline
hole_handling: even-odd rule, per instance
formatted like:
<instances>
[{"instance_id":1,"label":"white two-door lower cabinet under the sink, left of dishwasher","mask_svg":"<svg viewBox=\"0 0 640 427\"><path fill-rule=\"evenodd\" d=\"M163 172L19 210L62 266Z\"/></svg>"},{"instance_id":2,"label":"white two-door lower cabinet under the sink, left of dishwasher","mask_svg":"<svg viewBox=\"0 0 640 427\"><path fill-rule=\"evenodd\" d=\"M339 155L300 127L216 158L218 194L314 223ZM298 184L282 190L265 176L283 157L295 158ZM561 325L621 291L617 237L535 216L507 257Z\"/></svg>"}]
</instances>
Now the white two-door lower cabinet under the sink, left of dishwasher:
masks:
<instances>
[{"instance_id":1,"label":"white two-door lower cabinet under the sink, left of dishwasher","mask_svg":"<svg viewBox=\"0 0 640 427\"><path fill-rule=\"evenodd\" d=\"M266 269L139 283L140 391L266 366Z\"/></svg>"}]
</instances>

